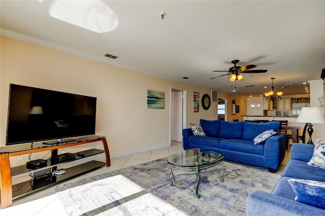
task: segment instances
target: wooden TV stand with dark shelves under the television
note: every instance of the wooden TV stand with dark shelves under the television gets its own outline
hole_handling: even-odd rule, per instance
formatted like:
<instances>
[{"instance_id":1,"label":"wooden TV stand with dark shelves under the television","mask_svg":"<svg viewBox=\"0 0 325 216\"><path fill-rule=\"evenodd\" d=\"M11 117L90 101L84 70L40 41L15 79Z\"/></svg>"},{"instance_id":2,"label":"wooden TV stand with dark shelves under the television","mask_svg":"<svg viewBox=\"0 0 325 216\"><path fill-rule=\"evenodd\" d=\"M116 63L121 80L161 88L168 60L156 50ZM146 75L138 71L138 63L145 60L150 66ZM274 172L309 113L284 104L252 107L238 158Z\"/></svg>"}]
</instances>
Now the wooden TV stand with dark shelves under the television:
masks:
<instances>
[{"instance_id":1,"label":"wooden TV stand with dark shelves under the television","mask_svg":"<svg viewBox=\"0 0 325 216\"><path fill-rule=\"evenodd\" d=\"M74 160L62 162L62 163L53 163L51 161L51 164L47 164L47 166L38 168L38 169L27 169L25 165L17 166L17 167L10 167L10 160L9 157L12 156L18 156L18 155L24 155L24 154L31 154L31 153L36 153L36 152L44 152L44 151L52 151L52 156L57 155L57 150L61 148L67 148L67 147L72 147L72 146L79 146L83 145L86 143L90 142L96 142L96 141L102 141L103 146L104 146L104 151L103 150L96 150L96 149L91 149L91 150L86 150L80 152L82 157L77 156ZM32 178L32 187L30 186L30 181L20 183L17 185L12 185L12 177L14 176L22 176L22 175L32 175L35 176L36 172L42 172L46 171L46 169L56 169L58 165L64 164L64 163L69 163L72 161L76 161L85 157L97 155L105 153L106 157L106 163L100 162L100 161L89 161L86 163L83 163L81 165L73 166L66 170L66 173L62 176L51 176L50 180L49 179L42 179L41 181L38 179L38 182L35 182L36 179L34 177ZM76 153L77 154L77 153ZM80 175L85 172L89 172L91 170L94 170L96 168L99 168L101 166L106 165L107 167L111 165L110 161L110 153L107 145L106 138L104 136L89 136L87 137L80 137L74 140L73 142L66 142L66 143L59 143L56 145L44 145L42 143L36 143L32 148L30 144L25 144L25 145L15 145L15 146L7 146L7 147L2 147L1 152L0 152L0 186L1 186L1 205L2 208L8 207L12 205L12 200L13 198L18 198L20 196L29 194L34 191L38 191L42 188L52 186L53 184L56 184L60 181L75 177L77 175ZM28 184L29 182L29 184ZM29 188L28 191L23 191L26 186ZM13 187L15 187L15 190L13 191ZM28 189L27 188L27 189ZM19 191L20 190L20 191ZM13 192L17 193L16 191L19 191L19 193L23 194L15 194L13 196Z\"/></svg>"}]
</instances>

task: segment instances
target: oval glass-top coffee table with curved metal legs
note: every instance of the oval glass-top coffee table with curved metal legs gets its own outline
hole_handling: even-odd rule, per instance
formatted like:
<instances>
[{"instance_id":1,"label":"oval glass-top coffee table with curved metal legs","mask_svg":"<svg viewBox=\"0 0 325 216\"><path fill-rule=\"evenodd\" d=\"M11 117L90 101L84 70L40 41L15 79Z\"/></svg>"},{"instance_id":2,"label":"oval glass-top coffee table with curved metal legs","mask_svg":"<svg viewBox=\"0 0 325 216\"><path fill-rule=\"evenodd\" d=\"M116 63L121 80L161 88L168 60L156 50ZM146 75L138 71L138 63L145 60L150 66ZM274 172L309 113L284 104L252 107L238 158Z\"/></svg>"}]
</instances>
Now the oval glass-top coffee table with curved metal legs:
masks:
<instances>
[{"instance_id":1,"label":"oval glass-top coffee table with curved metal legs","mask_svg":"<svg viewBox=\"0 0 325 216\"><path fill-rule=\"evenodd\" d=\"M190 172L186 174L196 174L197 175L196 196L200 198L201 195L199 194L199 186L201 183L201 170L208 169L210 167L213 167L221 163L222 168L217 169L216 171L220 175L220 181L223 182L223 171L224 171L224 165L222 162L223 158L224 156L222 154L218 153L216 150L211 150L211 149L188 149L182 151L179 154L171 155L167 159L167 162L172 165L171 171L174 178L174 182L171 185L175 186L176 184L173 169ZM210 171L215 171L215 169Z\"/></svg>"}]
</instances>

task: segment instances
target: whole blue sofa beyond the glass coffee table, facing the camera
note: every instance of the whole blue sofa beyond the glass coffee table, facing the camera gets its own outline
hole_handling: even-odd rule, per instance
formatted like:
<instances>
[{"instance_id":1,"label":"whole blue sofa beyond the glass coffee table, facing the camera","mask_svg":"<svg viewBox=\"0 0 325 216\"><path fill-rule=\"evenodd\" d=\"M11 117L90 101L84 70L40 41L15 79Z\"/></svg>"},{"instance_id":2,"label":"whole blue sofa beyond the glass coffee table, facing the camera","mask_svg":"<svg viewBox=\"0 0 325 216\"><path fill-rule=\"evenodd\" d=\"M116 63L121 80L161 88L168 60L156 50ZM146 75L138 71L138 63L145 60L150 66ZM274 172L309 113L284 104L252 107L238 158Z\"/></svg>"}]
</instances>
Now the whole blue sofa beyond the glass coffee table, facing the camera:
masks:
<instances>
[{"instance_id":1,"label":"whole blue sofa beyond the glass coffee table, facing the camera","mask_svg":"<svg viewBox=\"0 0 325 216\"><path fill-rule=\"evenodd\" d=\"M183 148L217 149L225 159L267 167L275 172L284 159L285 134L277 133L262 144L254 145L253 139L260 133L278 131L280 122L226 122L200 120L207 136L194 136L190 128L183 129Z\"/></svg>"}]
</instances>

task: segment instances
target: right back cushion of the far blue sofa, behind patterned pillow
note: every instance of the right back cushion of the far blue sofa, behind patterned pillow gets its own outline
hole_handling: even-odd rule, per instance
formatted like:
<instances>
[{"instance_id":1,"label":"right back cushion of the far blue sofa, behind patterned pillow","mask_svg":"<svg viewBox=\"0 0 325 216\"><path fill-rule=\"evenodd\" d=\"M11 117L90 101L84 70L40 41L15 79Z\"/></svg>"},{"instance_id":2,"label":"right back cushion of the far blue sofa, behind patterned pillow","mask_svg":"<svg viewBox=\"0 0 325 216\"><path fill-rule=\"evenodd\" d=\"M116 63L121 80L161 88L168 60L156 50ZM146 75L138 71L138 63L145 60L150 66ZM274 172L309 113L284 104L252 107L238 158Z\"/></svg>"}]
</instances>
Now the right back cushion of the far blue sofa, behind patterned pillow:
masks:
<instances>
[{"instance_id":1,"label":"right back cushion of the far blue sofa, behind patterned pillow","mask_svg":"<svg viewBox=\"0 0 325 216\"><path fill-rule=\"evenodd\" d=\"M243 137L244 140L253 140L258 134L266 130L278 131L280 122L242 122L243 123Z\"/></svg>"}]
</instances>

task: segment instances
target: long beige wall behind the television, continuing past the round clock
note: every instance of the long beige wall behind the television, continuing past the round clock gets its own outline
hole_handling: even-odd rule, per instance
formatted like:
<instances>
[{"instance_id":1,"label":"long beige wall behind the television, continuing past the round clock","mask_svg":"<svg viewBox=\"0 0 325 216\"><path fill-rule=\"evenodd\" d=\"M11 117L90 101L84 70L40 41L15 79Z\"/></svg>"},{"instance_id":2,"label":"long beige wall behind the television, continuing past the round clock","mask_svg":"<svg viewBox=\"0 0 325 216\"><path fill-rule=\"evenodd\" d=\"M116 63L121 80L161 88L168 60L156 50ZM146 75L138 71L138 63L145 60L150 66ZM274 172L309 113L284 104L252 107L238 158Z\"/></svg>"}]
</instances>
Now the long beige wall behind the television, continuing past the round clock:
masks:
<instances>
[{"instance_id":1,"label":"long beige wall behind the television, continuing past the round clock","mask_svg":"<svg viewBox=\"0 0 325 216\"><path fill-rule=\"evenodd\" d=\"M0 147L5 146L9 84L19 84L97 97L96 134L106 135L112 157L170 145L171 86L187 89L187 123L216 119L216 102L205 113L192 112L192 92L211 89L159 78L40 45L1 36ZM147 109L147 89L165 92L165 109ZM228 121L246 115L246 98L228 98ZM231 115L231 101L240 114ZM53 101L53 106L61 105ZM201 106L202 107L202 106ZM167 136L167 139L165 139Z\"/></svg>"}]
</instances>

